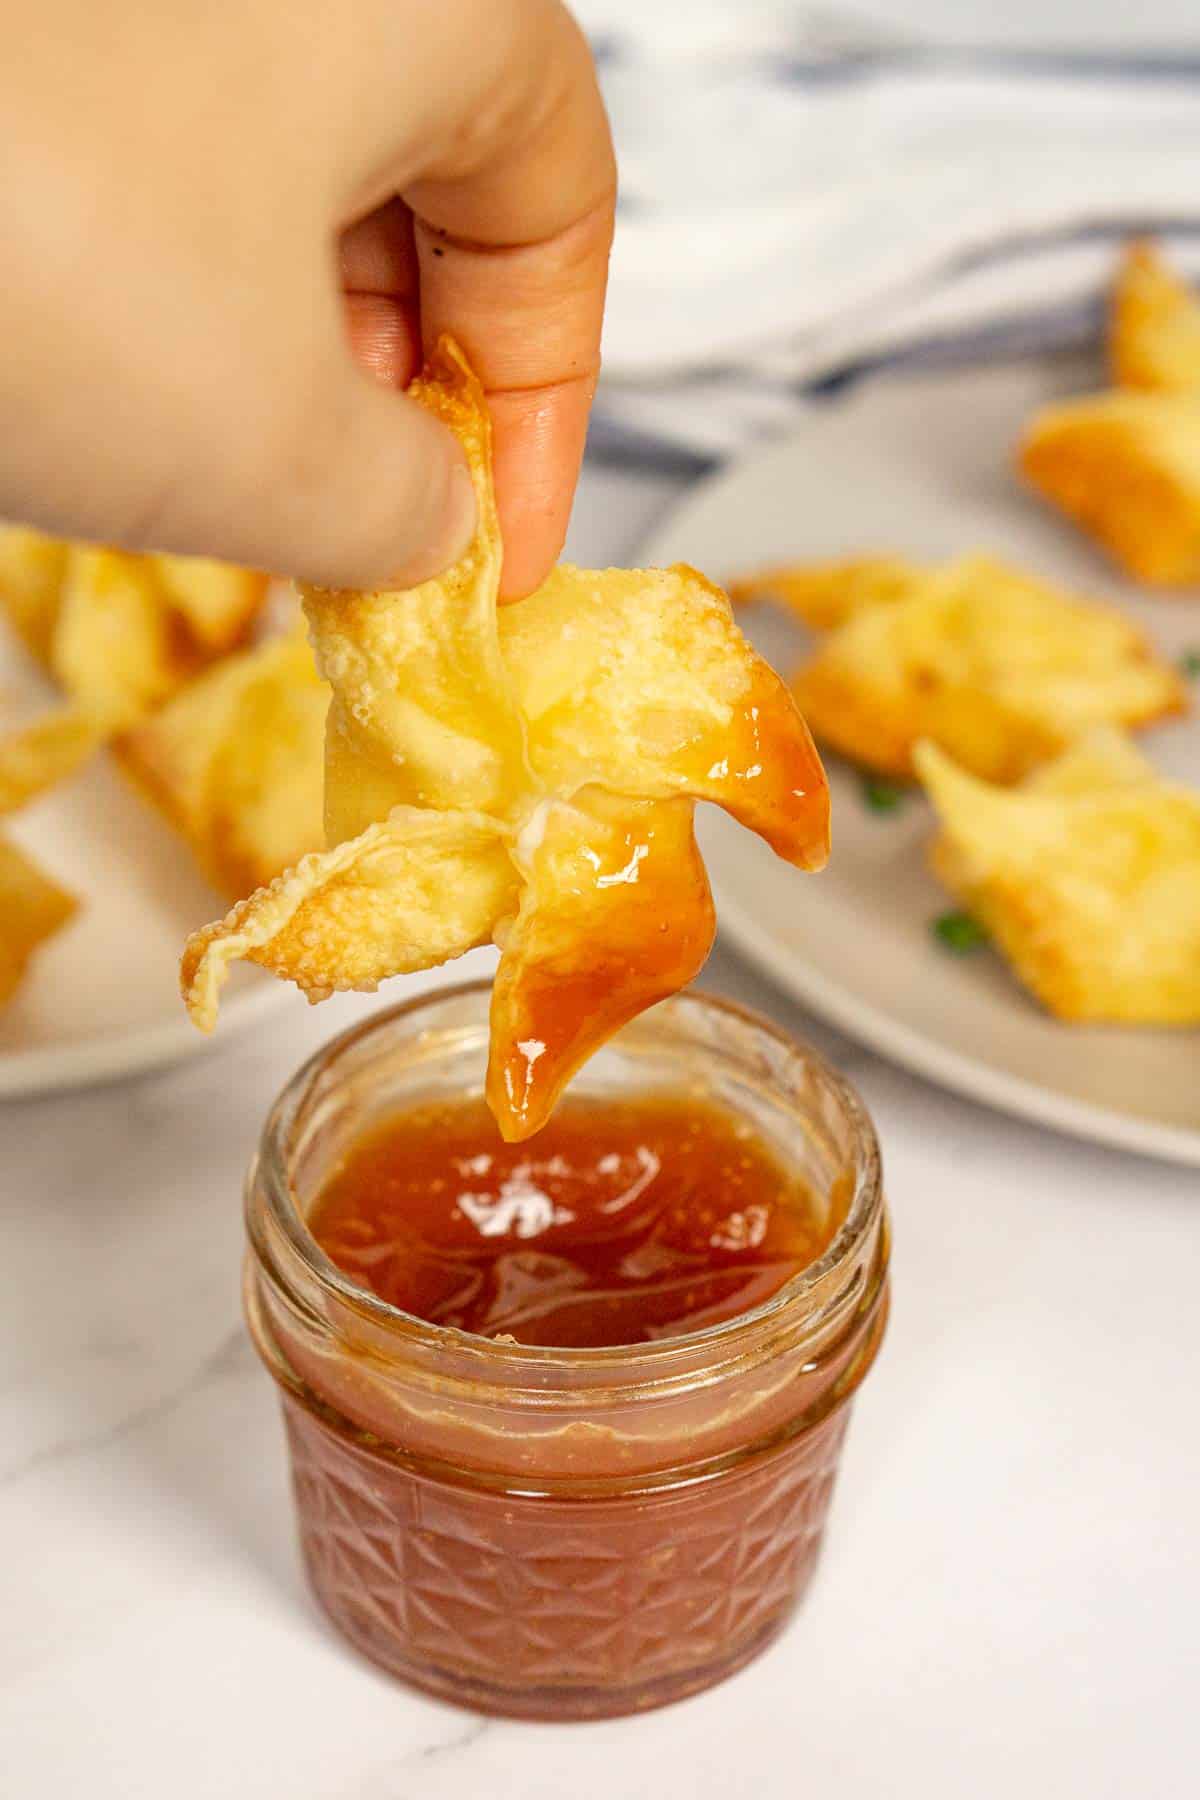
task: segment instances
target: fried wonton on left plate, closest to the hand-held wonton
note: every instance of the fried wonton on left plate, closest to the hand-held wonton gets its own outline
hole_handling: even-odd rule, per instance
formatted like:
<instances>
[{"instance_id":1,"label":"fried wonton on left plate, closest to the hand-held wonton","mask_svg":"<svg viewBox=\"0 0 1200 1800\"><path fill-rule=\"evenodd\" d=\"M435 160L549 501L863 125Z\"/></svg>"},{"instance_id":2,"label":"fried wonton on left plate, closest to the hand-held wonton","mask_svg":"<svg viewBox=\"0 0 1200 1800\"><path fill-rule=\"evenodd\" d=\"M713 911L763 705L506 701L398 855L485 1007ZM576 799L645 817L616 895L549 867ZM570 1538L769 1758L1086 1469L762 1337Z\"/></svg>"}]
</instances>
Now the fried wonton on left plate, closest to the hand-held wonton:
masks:
<instances>
[{"instance_id":1,"label":"fried wonton on left plate, closest to the hand-held wonton","mask_svg":"<svg viewBox=\"0 0 1200 1800\"><path fill-rule=\"evenodd\" d=\"M327 706L297 628L218 662L117 740L126 772L230 900L322 848Z\"/></svg>"}]
</instances>

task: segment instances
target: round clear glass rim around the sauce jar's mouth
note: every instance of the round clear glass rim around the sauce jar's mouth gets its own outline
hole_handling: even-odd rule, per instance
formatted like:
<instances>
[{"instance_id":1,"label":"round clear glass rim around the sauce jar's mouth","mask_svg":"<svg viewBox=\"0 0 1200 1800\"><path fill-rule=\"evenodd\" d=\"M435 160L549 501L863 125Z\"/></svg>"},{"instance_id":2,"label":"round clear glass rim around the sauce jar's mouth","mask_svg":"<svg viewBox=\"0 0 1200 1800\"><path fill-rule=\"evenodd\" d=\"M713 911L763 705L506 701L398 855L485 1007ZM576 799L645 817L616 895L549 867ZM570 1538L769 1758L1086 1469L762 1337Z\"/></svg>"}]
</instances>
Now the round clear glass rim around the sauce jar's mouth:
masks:
<instances>
[{"instance_id":1,"label":"round clear glass rim around the sauce jar's mouth","mask_svg":"<svg viewBox=\"0 0 1200 1800\"><path fill-rule=\"evenodd\" d=\"M423 1345L426 1350L441 1348L453 1350L459 1357L462 1354L486 1357L489 1368L493 1370L504 1366L511 1372L520 1370L529 1375L534 1375L538 1370L578 1370L579 1373L601 1372L613 1364L637 1364L642 1370L648 1370L649 1366L664 1370L675 1361L694 1357L696 1352L730 1346L745 1334L759 1332L765 1327L770 1327L775 1319L786 1316L797 1301L802 1301L815 1289L819 1289L820 1283L838 1269L838 1265L851 1262L855 1251L873 1229L883 1208L880 1145L871 1114L867 1112L858 1089L853 1082L846 1080L846 1076L840 1075L811 1044L784 1031L772 1019L766 1019L754 1008L741 1006L738 1001L729 1001L714 994L684 988L680 994L660 1001L658 1008L676 1008L684 1012L698 1008L703 1013L721 1013L723 1017L734 1019L743 1026L752 1026L756 1031L774 1039L774 1042L790 1055L801 1057L808 1073L819 1078L826 1093L846 1114L853 1145L855 1192L842 1224L815 1262L793 1274L757 1307L752 1307L747 1312L738 1312L730 1319L721 1319L714 1325L705 1325L691 1332L678 1332L671 1337L628 1345L549 1346L500 1343L495 1337L484 1337L480 1332L468 1332L457 1325L435 1325L432 1319L423 1319L414 1312L405 1312L401 1307L394 1307L371 1289L351 1280L351 1276L338 1269L338 1265L324 1253L309 1231L291 1184L288 1145L304 1100L311 1093L317 1078L340 1057L354 1049L363 1039L387 1030L398 1021L417 1013L426 1006L446 1001L461 1001L473 995L486 995L489 990L491 983L488 979L459 981L450 986L437 986L434 990L426 988L423 994L417 994L408 1001L398 1001L394 1006L371 1013L367 1019L349 1026L345 1031L338 1031L336 1037L329 1039L327 1044L302 1062L272 1105L259 1139L259 1154L252 1168L248 1188L250 1206L254 1204L252 1197L257 1188L273 1228L282 1235L290 1251L300 1260L306 1274L315 1280L318 1289L331 1300L336 1300L342 1307L358 1310L376 1325L403 1330L410 1343ZM254 1242L255 1233L252 1220L250 1226Z\"/></svg>"}]
</instances>

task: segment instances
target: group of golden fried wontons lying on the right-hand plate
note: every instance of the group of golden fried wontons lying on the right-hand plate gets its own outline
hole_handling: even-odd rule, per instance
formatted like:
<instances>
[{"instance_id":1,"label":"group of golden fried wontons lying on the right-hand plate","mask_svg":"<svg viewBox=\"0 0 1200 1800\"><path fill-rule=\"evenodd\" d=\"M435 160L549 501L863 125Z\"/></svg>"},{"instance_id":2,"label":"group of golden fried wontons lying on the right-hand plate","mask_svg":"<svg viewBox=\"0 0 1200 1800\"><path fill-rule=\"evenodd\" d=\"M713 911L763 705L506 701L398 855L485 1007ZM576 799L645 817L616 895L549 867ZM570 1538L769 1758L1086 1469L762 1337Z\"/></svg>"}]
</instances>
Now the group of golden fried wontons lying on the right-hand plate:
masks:
<instances>
[{"instance_id":1,"label":"group of golden fried wontons lying on the right-hand plate","mask_svg":"<svg viewBox=\"0 0 1200 1800\"><path fill-rule=\"evenodd\" d=\"M1148 245L1119 272L1110 362L1114 392L1038 414L1022 470L1135 578L1200 581L1200 301ZM1187 711L1187 684L1128 617L982 554L730 592L817 634L793 691L819 742L925 785L934 871L1049 1012L1200 1022L1200 794L1128 738Z\"/></svg>"}]
</instances>

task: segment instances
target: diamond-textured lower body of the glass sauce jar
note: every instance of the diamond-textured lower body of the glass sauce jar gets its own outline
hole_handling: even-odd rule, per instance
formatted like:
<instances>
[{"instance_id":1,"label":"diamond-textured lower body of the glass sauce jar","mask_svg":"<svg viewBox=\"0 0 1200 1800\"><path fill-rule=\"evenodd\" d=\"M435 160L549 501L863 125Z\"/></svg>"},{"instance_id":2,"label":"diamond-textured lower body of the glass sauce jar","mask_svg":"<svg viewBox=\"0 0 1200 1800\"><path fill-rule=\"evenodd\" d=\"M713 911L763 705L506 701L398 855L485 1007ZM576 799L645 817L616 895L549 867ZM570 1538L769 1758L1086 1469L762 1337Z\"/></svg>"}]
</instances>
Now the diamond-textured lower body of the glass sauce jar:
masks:
<instances>
[{"instance_id":1,"label":"diamond-textured lower body of the glass sauce jar","mask_svg":"<svg viewBox=\"0 0 1200 1800\"><path fill-rule=\"evenodd\" d=\"M662 1706L763 1651L811 1579L847 1420L705 1481L560 1499L434 1480L282 1406L336 1629L414 1687L524 1719Z\"/></svg>"}]
</instances>

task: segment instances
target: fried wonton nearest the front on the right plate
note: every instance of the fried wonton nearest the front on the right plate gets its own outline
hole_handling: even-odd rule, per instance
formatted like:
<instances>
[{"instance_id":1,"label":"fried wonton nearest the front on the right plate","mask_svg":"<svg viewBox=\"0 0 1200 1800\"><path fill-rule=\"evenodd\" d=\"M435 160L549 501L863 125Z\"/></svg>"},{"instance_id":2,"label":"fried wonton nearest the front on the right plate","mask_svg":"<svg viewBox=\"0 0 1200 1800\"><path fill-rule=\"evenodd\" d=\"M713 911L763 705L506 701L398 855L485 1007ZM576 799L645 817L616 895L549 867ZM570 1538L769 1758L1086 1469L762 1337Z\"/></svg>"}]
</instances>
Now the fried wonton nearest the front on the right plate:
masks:
<instances>
[{"instance_id":1,"label":"fried wonton nearest the front on the right plate","mask_svg":"<svg viewBox=\"0 0 1200 1800\"><path fill-rule=\"evenodd\" d=\"M1112 731L1020 788L977 781L932 743L916 761L941 819L936 873L1049 1012L1200 1022L1200 794Z\"/></svg>"}]
</instances>

